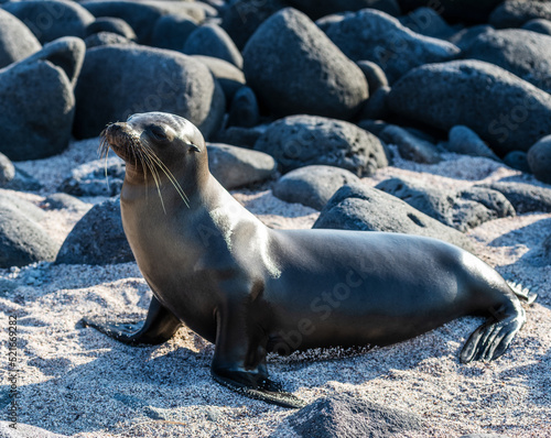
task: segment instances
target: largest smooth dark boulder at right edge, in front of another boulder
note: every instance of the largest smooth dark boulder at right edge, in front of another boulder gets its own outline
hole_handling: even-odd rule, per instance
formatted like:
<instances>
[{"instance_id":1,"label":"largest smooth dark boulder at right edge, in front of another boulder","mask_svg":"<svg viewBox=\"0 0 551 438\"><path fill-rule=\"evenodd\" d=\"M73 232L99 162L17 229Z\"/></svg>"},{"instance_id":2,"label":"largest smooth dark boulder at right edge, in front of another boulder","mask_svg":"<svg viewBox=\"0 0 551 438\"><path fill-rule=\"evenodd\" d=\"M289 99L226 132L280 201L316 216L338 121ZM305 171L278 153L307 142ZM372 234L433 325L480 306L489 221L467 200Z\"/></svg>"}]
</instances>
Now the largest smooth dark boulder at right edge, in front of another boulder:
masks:
<instances>
[{"instance_id":1,"label":"largest smooth dark boulder at right edge, in front of another boulder","mask_svg":"<svg viewBox=\"0 0 551 438\"><path fill-rule=\"evenodd\" d=\"M397 114L442 130L464 124L501 155L551 133L551 96L482 61L418 67L395 84L389 103Z\"/></svg>"}]
</instances>

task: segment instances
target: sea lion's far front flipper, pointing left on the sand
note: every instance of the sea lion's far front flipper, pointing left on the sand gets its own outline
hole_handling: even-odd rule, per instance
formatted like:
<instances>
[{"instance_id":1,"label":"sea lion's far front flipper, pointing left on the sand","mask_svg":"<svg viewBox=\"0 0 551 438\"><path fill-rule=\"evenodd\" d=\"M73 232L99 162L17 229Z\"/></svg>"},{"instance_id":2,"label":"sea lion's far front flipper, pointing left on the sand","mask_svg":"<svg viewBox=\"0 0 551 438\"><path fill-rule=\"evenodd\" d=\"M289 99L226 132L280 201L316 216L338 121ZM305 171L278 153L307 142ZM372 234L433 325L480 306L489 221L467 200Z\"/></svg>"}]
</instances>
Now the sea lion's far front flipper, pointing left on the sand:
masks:
<instances>
[{"instance_id":1,"label":"sea lion's far front flipper, pointing left on the sand","mask_svg":"<svg viewBox=\"0 0 551 438\"><path fill-rule=\"evenodd\" d=\"M182 322L153 296L149 305L145 322L104 322L97 318L83 318L83 324L117 339L137 346L158 344L168 341Z\"/></svg>"}]
</instances>

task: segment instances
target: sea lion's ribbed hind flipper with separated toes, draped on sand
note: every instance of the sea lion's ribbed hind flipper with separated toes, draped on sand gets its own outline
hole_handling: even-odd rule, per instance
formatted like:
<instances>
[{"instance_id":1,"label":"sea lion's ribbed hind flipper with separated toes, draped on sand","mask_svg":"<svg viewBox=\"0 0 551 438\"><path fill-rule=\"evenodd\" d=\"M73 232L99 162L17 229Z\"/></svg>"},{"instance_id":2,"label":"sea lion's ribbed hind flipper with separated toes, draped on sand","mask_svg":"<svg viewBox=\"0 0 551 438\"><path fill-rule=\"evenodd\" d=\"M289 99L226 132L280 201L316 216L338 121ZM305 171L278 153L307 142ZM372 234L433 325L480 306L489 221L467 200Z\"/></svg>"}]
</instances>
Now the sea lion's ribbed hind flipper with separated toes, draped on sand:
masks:
<instances>
[{"instance_id":1,"label":"sea lion's ribbed hind flipper with separated toes, draped on sand","mask_svg":"<svg viewBox=\"0 0 551 438\"><path fill-rule=\"evenodd\" d=\"M471 335L460 355L462 363L491 361L505 353L515 335L526 322L525 310L520 304L518 306L514 304L511 307L515 309L514 315L499 318L504 315L500 313L489 318Z\"/></svg>"}]
</instances>

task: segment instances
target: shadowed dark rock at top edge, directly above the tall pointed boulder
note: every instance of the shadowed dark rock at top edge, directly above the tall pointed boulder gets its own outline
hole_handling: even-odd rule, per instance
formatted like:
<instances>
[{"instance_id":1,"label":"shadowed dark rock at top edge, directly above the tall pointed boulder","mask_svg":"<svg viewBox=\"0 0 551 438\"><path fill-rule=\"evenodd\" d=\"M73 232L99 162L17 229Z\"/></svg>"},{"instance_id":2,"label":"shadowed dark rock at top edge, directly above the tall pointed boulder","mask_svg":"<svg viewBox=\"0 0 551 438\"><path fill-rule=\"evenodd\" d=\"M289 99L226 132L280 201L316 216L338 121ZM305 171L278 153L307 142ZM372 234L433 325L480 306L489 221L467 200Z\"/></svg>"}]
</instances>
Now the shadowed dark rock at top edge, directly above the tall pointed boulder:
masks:
<instances>
[{"instance_id":1,"label":"shadowed dark rock at top edge, directly above the tall pointed boulder","mask_svg":"<svg viewBox=\"0 0 551 438\"><path fill-rule=\"evenodd\" d=\"M288 3L309 15L312 20L333 13L377 9L390 15L399 15L400 7L396 0L288 0Z\"/></svg>"}]
</instances>

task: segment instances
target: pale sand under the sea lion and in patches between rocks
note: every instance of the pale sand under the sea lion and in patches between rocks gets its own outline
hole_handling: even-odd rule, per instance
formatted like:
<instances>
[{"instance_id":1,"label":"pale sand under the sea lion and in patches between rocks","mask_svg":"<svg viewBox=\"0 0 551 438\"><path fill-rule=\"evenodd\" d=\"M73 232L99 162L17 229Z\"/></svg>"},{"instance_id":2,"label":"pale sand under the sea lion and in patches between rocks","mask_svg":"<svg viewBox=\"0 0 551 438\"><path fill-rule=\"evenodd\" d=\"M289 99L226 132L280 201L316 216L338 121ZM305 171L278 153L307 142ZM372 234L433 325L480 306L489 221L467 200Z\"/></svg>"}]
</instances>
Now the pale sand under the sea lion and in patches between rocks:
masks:
<instances>
[{"instance_id":1,"label":"pale sand under the sea lion and in patches between rocks","mask_svg":"<svg viewBox=\"0 0 551 438\"><path fill-rule=\"evenodd\" d=\"M24 195L39 202L83 162L96 158L94 142L61 156L23 163L45 189ZM398 162L365 183L390 176L436 185L525 178L484 158L456 156L435 166ZM401 167L401 168L399 168ZM269 189L237 190L237 199L274 228L310 228L314 210L282 202ZM44 226L61 243L84 211L48 211ZM551 437L551 265L538 245L551 233L551 215L533 213L487 222L469 232L479 255L508 278L538 292L528 324L511 348L491 363L458 363L466 337L480 318L462 318L400 344L339 359L338 351L270 357L274 380L307 402L336 393L422 416L428 429L408 437L460 437L500 432ZM150 292L136 264L109 266L48 263L0 270L0 351L7 358L8 316L18 316L19 420L72 437L268 437L293 413L241 397L209 376L213 346L182 328L159 347L132 348L78 322L86 315L142 319ZM7 384L7 362L1 366ZM6 387L0 399L6 395ZM6 407L3 408L6 414ZM2 419L6 419L6 415ZM6 423L1 430L8 430ZM289 431L289 429L287 429ZM23 427L19 436L30 436ZM39 434L39 436L41 436ZM44 434L42 435L44 436Z\"/></svg>"}]
</instances>

